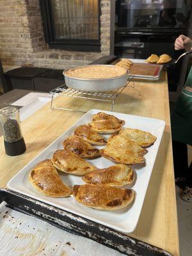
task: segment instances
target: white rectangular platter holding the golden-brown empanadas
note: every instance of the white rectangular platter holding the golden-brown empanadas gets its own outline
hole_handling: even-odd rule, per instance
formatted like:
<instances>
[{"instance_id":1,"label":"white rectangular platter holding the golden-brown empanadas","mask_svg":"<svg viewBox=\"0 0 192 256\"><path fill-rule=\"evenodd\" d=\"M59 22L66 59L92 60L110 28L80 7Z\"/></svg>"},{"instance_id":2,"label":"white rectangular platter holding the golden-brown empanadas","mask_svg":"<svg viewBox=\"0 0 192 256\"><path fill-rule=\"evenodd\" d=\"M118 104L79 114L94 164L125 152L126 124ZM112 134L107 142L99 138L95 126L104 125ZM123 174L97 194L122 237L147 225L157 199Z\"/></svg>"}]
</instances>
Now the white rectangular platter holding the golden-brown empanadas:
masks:
<instances>
[{"instance_id":1,"label":"white rectangular platter holding the golden-brown empanadas","mask_svg":"<svg viewBox=\"0 0 192 256\"><path fill-rule=\"evenodd\" d=\"M36 191L35 188L29 183L28 175L32 168L44 159L51 159L54 152L58 149L62 149L62 142L65 138L72 135L74 129L81 124L88 124L92 120L92 115L98 113L102 110L91 109L82 118L80 118L76 124L72 125L67 131L65 131L57 140L51 143L49 147L45 148L38 156L35 157L30 163L28 163L19 173L17 173L7 184L8 188L22 193L24 195L30 196L42 202L50 205L54 205L60 209L68 212L72 212L89 220L98 222L102 225L114 228L121 232L129 233L132 232L138 223L140 217L141 208L145 198L145 194L148 187L148 182L150 180L150 175L156 160L157 151L161 138L164 131L165 122L163 120L146 118L142 116L125 115L122 113L114 113L109 111L102 111L110 115L115 115L117 118L125 120L124 127L141 129L143 131L148 131L157 136L157 140L148 149L148 153L145 155L146 164L143 166L135 165L133 166L136 171L136 182L132 189L136 191L136 198L134 204L131 207L125 207L124 209L118 211L99 211L96 209L85 207L76 202L73 197L68 198L51 198L49 196L42 195L40 192ZM108 136L104 136L108 138ZM97 148L103 148L102 146ZM97 166L97 168L106 168L115 163L105 159L104 157L98 157L96 159L88 160L88 162ZM76 175L69 175L67 173L59 172L61 179L65 184L72 186L74 184L84 184L81 177Z\"/></svg>"}]
</instances>

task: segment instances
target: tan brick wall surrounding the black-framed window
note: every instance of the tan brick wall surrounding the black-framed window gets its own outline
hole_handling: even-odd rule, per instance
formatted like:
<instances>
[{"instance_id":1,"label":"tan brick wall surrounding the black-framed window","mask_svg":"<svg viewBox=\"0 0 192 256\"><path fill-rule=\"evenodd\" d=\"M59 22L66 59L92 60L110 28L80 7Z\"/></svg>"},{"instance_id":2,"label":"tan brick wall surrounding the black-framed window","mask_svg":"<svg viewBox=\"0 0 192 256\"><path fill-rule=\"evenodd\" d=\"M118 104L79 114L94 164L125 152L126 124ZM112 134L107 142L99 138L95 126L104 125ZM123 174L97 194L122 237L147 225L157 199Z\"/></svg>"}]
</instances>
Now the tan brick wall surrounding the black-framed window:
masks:
<instances>
[{"instance_id":1,"label":"tan brick wall surrounding the black-framed window","mask_svg":"<svg viewBox=\"0 0 192 256\"><path fill-rule=\"evenodd\" d=\"M4 65L62 69L86 65L109 54L110 0L101 0L101 52L72 52L49 49L39 0L0 0L0 59Z\"/></svg>"}]
</instances>

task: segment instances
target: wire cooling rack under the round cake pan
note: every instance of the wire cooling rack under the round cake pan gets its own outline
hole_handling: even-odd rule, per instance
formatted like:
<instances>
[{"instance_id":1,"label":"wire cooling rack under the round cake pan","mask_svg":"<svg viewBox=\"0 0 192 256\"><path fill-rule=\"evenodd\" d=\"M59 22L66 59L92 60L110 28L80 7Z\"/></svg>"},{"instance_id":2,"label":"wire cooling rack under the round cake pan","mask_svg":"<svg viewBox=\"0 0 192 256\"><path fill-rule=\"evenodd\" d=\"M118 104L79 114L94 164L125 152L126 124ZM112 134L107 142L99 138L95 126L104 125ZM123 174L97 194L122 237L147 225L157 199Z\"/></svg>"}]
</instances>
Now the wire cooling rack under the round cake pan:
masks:
<instances>
[{"instance_id":1,"label":"wire cooling rack under the round cake pan","mask_svg":"<svg viewBox=\"0 0 192 256\"><path fill-rule=\"evenodd\" d=\"M67 87L66 84L62 84L61 86L58 86L57 88L54 88L51 90L50 93L52 93L52 99L51 99L51 109L63 109L63 110L69 110L69 111L74 111L74 109L69 109L69 108L61 108L55 106L54 99L56 96L61 95L62 97L74 97L74 98L79 98L79 99L84 99L84 100L99 100L103 102L111 102L111 111L113 111L113 107L115 104L115 100L122 93L122 91L127 87L134 88L134 75L129 75L127 84L125 86L118 88L116 90L110 91L110 92L81 92L75 89L72 89L70 87ZM132 85L128 85L132 81ZM79 112L86 112L83 110L76 110Z\"/></svg>"}]
</instances>

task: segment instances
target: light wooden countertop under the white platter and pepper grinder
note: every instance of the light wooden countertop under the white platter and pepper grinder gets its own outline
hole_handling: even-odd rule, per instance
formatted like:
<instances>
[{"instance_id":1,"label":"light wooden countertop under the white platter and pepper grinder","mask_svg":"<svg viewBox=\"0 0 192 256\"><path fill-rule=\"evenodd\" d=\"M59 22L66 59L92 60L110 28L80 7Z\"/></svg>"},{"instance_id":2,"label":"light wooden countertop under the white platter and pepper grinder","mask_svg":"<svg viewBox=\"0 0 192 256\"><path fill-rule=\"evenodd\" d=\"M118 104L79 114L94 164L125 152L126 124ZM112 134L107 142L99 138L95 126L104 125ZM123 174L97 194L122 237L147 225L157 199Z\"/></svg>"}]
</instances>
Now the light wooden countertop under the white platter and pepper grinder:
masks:
<instances>
[{"instance_id":1,"label":"light wooden countertop under the white platter and pepper grinder","mask_svg":"<svg viewBox=\"0 0 192 256\"><path fill-rule=\"evenodd\" d=\"M58 97L58 106L77 109L108 109L106 102ZM166 122L163 139L157 153L156 163L148 185L147 194L136 230L129 234L147 243L159 246L179 255L177 205L173 173L172 137L168 85L164 75L161 81L134 82L134 88L127 87L116 99L113 111L131 115L159 118ZM56 140L83 113L53 111L50 103L22 122L22 133L27 150L20 156L10 157L4 153L3 137L0 138L0 186L6 186L20 168Z\"/></svg>"}]
</instances>

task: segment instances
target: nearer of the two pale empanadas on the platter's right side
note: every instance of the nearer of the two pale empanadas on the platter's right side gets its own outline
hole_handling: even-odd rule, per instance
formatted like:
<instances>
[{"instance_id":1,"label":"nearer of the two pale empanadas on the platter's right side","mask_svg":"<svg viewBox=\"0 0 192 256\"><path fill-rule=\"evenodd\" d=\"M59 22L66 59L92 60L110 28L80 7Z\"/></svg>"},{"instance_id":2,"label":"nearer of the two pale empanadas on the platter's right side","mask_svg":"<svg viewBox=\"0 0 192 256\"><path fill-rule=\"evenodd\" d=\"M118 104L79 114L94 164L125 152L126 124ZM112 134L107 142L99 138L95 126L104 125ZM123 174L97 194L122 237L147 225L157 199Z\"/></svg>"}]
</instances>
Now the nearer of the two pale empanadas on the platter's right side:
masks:
<instances>
[{"instance_id":1,"label":"nearer of the two pale empanadas on the platter's right side","mask_svg":"<svg viewBox=\"0 0 192 256\"><path fill-rule=\"evenodd\" d=\"M147 154L147 149L141 148L138 143L121 135L111 136L107 146L100 150L101 156L122 164L145 163L143 157Z\"/></svg>"}]
</instances>

